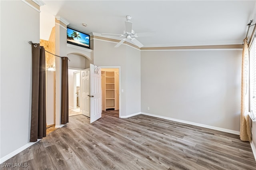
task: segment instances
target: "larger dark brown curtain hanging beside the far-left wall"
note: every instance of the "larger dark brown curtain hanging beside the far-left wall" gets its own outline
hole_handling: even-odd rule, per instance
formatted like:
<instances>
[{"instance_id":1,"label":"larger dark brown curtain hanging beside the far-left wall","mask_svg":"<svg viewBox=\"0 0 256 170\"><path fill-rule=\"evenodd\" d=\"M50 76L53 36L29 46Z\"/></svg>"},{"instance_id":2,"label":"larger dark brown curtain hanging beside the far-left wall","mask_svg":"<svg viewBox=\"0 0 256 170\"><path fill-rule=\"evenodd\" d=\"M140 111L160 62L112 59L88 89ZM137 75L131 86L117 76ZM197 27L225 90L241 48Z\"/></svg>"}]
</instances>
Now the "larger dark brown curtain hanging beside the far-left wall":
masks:
<instances>
[{"instance_id":1,"label":"larger dark brown curtain hanging beside the far-left wall","mask_svg":"<svg viewBox=\"0 0 256 170\"><path fill-rule=\"evenodd\" d=\"M32 110L30 142L46 136L46 71L45 50L32 44Z\"/></svg>"}]
</instances>

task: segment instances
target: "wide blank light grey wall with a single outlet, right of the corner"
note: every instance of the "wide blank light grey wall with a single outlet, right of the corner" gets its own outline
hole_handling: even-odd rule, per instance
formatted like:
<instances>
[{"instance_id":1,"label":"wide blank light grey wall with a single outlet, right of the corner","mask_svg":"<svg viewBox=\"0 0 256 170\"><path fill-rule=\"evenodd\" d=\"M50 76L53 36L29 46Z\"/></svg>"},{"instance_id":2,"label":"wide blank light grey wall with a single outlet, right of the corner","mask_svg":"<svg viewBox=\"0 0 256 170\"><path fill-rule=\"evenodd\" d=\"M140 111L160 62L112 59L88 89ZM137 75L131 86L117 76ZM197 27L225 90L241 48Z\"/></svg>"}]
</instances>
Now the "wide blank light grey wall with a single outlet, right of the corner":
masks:
<instances>
[{"instance_id":1,"label":"wide blank light grey wall with a single outlet, right of the corner","mask_svg":"<svg viewBox=\"0 0 256 170\"><path fill-rule=\"evenodd\" d=\"M241 54L141 51L141 111L239 131Z\"/></svg>"}]
</instances>

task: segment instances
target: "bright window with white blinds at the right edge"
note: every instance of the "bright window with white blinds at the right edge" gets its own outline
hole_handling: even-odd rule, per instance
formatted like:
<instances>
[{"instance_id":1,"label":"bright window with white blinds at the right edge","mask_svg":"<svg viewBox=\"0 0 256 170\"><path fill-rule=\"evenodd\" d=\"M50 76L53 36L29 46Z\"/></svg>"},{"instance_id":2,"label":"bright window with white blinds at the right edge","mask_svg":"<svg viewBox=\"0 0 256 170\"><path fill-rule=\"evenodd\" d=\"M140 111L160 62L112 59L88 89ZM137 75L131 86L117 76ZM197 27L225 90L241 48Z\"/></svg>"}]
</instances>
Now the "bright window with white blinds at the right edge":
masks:
<instances>
[{"instance_id":1,"label":"bright window with white blinds at the right edge","mask_svg":"<svg viewBox=\"0 0 256 170\"><path fill-rule=\"evenodd\" d=\"M256 38L252 40L249 49L250 56L250 112L256 119Z\"/></svg>"}]
</instances>

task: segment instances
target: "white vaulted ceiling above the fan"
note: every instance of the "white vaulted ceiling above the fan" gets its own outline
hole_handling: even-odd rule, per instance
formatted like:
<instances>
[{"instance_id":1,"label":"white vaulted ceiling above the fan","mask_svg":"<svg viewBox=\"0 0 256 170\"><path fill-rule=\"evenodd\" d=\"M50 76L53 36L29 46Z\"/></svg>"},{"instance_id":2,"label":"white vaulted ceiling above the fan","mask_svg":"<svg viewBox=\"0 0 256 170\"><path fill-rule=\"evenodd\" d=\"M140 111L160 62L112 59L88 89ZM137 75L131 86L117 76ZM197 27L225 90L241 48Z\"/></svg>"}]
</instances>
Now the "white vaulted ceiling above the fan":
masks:
<instances>
[{"instance_id":1,"label":"white vaulted ceiling above the fan","mask_svg":"<svg viewBox=\"0 0 256 170\"><path fill-rule=\"evenodd\" d=\"M137 38L144 47L242 44L251 19L256 21L255 0L88 1L43 0L40 38L48 40L54 15L85 33L122 34L126 16L132 16L135 33L155 32ZM82 26L86 23L88 26ZM250 29L252 31L252 28Z\"/></svg>"}]
</instances>

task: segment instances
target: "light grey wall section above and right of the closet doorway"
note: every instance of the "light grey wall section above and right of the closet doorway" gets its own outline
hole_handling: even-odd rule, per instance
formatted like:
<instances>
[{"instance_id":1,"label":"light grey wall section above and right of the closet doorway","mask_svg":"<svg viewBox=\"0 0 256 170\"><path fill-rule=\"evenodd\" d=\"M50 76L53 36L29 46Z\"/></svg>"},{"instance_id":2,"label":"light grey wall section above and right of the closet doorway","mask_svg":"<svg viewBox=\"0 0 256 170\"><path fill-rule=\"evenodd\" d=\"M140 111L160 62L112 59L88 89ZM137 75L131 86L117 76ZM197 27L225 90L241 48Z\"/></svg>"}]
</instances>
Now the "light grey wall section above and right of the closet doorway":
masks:
<instances>
[{"instance_id":1,"label":"light grey wall section above and right of the closet doorway","mask_svg":"<svg viewBox=\"0 0 256 170\"><path fill-rule=\"evenodd\" d=\"M127 45L114 48L116 43L94 40L94 64L120 66L121 115L140 112L140 51ZM120 91L121 91L120 89Z\"/></svg>"}]
</instances>

